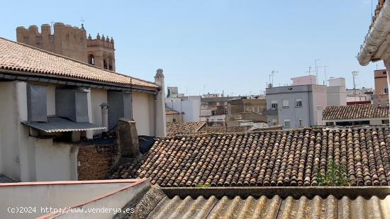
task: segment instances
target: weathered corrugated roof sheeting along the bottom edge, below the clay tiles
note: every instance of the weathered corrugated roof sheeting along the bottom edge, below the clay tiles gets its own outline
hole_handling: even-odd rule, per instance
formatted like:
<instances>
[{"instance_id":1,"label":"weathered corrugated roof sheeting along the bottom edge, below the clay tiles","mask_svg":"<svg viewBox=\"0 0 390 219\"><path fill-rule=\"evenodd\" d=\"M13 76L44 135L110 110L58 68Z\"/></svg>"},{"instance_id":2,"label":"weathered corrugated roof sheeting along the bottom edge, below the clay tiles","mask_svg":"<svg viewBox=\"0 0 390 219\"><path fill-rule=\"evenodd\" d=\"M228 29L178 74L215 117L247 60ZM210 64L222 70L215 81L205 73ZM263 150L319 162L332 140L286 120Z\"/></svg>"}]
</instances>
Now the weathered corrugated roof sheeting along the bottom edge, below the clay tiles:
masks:
<instances>
[{"instance_id":1,"label":"weathered corrugated roof sheeting along the bottom edge, below the clay tiles","mask_svg":"<svg viewBox=\"0 0 390 219\"><path fill-rule=\"evenodd\" d=\"M163 198L147 218L390 218L390 196L301 196L298 200L292 196L174 196Z\"/></svg>"}]
</instances>

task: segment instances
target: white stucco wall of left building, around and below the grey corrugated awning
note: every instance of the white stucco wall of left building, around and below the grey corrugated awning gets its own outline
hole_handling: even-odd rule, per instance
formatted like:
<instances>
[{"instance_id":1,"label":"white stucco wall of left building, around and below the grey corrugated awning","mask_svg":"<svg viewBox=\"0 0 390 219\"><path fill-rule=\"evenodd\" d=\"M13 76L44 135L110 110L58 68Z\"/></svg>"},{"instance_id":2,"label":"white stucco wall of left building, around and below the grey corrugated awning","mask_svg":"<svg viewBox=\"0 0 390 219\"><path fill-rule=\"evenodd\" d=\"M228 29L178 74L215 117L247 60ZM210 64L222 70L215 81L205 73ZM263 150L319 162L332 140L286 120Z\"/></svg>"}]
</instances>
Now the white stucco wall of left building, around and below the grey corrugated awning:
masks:
<instances>
[{"instance_id":1,"label":"white stucco wall of left building, around and below the grey corrugated awning","mask_svg":"<svg viewBox=\"0 0 390 219\"><path fill-rule=\"evenodd\" d=\"M52 91L55 88L50 86L49 96ZM72 172L76 172L76 160L71 146L54 146L51 139L29 137L29 128L21 124L27 120L26 83L1 82L0 102L1 172L18 181L75 179ZM55 111L51 103L49 111Z\"/></svg>"}]
</instances>

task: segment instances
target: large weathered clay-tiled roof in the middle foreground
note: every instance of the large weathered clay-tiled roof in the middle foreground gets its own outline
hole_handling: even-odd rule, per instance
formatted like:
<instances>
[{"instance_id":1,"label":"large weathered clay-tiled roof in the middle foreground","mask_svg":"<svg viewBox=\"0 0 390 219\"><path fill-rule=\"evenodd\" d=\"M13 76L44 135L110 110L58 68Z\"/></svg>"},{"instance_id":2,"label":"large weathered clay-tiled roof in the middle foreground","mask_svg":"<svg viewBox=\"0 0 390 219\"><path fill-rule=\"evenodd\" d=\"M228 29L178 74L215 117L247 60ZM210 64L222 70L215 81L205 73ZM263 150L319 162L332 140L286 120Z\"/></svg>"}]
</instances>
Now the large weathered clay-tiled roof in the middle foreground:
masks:
<instances>
[{"instance_id":1,"label":"large weathered clay-tiled roof in the middle foreground","mask_svg":"<svg viewBox=\"0 0 390 219\"><path fill-rule=\"evenodd\" d=\"M316 186L328 161L351 186L390 185L389 128L304 129L161 138L112 179L160 186Z\"/></svg>"}]
</instances>

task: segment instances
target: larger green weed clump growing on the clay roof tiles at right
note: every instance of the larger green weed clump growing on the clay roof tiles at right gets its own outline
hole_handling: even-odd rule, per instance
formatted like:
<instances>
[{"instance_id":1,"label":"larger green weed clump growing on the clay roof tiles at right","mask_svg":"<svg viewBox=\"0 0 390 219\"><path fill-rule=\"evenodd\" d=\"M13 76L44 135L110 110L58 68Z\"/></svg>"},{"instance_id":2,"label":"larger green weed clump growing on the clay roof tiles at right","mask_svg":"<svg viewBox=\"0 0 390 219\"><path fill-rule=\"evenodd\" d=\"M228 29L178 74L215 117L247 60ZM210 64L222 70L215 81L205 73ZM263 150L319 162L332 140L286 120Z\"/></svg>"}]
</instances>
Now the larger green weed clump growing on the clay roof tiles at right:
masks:
<instances>
[{"instance_id":1,"label":"larger green weed clump growing on the clay roof tiles at right","mask_svg":"<svg viewBox=\"0 0 390 219\"><path fill-rule=\"evenodd\" d=\"M321 174L317 169L318 186L349 186L347 171L340 164L336 164L333 159L328 162L328 173Z\"/></svg>"}]
</instances>

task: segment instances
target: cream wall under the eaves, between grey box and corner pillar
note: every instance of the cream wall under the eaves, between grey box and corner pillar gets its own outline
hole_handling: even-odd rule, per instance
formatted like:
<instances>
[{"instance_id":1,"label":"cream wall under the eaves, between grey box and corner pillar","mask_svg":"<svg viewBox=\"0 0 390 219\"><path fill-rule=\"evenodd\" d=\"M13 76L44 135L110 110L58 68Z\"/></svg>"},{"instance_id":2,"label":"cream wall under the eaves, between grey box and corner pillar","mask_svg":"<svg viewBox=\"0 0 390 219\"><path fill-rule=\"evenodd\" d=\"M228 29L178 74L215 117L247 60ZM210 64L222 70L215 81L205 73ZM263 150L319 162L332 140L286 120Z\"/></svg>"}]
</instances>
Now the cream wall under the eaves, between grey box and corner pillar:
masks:
<instances>
[{"instance_id":1,"label":"cream wall under the eaves, between grey box and corner pillar","mask_svg":"<svg viewBox=\"0 0 390 219\"><path fill-rule=\"evenodd\" d=\"M133 119L138 135L155 135L155 102L152 94L134 92Z\"/></svg>"}]
</instances>

